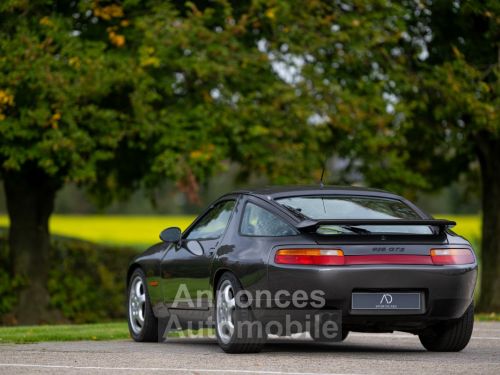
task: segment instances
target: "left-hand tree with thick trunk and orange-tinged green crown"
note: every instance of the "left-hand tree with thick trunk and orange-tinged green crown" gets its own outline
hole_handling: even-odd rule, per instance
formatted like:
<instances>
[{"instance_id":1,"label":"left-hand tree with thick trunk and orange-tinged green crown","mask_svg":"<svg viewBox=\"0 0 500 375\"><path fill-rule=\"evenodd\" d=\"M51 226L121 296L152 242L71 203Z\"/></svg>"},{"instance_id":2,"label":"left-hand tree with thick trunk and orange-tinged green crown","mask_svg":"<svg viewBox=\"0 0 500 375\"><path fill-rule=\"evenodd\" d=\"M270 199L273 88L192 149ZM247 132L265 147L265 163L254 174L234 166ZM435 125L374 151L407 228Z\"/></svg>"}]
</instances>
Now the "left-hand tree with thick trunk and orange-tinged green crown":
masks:
<instances>
[{"instance_id":1,"label":"left-hand tree with thick trunk and orange-tinged green crown","mask_svg":"<svg viewBox=\"0 0 500 375\"><path fill-rule=\"evenodd\" d=\"M23 323L51 319L48 222L56 192L67 181L94 180L96 164L113 155L131 123L123 110L130 58L117 52L121 40L111 32L90 35L96 27L87 10L52 1L0 5L0 175L12 272L27 279L16 311Z\"/></svg>"}]
</instances>

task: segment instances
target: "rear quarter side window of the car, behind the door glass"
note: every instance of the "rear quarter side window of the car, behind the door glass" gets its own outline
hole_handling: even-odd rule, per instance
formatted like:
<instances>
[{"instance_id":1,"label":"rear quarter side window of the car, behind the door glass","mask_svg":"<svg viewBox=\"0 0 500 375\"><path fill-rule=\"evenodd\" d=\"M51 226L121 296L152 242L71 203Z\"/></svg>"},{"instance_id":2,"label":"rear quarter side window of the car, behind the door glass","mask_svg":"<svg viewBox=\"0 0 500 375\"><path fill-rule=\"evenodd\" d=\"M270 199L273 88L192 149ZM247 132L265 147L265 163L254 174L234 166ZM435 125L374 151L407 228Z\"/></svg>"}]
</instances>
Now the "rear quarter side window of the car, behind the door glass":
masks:
<instances>
[{"instance_id":1,"label":"rear quarter side window of the car, behind the door glass","mask_svg":"<svg viewBox=\"0 0 500 375\"><path fill-rule=\"evenodd\" d=\"M245 205L243 220L240 227L241 234L247 236L294 236L295 228L275 214L248 202Z\"/></svg>"}]
</instances>

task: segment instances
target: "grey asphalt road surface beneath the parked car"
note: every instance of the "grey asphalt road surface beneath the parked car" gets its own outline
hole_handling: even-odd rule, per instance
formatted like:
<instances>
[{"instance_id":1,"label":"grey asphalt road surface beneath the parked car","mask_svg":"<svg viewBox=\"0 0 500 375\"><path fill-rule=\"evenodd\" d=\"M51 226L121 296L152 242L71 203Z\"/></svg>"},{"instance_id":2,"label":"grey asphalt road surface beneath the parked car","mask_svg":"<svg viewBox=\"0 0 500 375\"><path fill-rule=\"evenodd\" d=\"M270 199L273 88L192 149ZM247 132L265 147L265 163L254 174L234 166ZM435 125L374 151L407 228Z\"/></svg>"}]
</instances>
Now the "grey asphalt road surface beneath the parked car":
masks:
<instances>
[{"instance_id":1,"label":"grey asphalt road surface beneath the parked car","mask_svg":"<svg viewBox=\"0 0 500 375\"><path fill-rule=\"evenodd\" d=\"M0 374L500 374L500 323L476 323L460 353L426 352L404 333L351 333L338 344L271 340L259 354L229 355L211 339L0 344Z\"/></svg>"}]
</instances>

